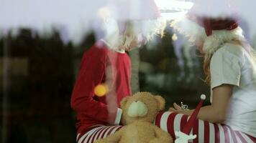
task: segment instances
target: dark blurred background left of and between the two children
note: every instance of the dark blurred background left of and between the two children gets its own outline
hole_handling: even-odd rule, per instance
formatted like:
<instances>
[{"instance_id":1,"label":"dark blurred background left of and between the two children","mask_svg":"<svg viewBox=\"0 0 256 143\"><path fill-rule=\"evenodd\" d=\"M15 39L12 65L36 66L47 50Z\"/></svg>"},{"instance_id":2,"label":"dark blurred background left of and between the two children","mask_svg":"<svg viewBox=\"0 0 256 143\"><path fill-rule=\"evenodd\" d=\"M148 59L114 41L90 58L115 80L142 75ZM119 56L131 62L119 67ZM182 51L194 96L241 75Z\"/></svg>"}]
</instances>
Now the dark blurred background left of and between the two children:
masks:
<instances>
[{"instance_id":1,"label":"dark blurred background left of and between the two children","mask_svg":"<svg viewBox=\"0 0 256 143\"><path fill-rule=\"evenodd\" d=\"M172 36L168 28L163 39L155 36L155 42L129 52L133 92L162 95L166 109L181 101L196 107L200 94L207 95L204 104L209 104L203 57L186 42L177 56ZM75 142L76 113L70 109L70 95L83 51L94 42L93 33L74 45L63 44L58 31L44 37L30 29L0 39L0 142Z\"/></svg>"}]
</instances>

